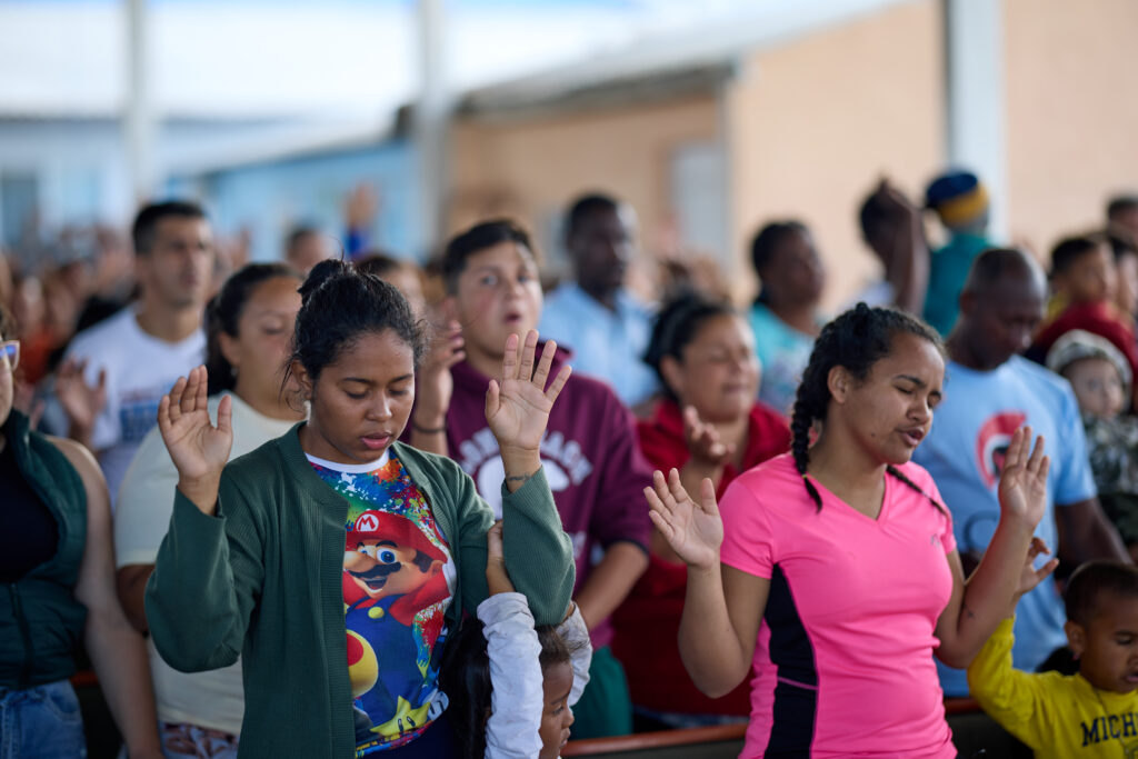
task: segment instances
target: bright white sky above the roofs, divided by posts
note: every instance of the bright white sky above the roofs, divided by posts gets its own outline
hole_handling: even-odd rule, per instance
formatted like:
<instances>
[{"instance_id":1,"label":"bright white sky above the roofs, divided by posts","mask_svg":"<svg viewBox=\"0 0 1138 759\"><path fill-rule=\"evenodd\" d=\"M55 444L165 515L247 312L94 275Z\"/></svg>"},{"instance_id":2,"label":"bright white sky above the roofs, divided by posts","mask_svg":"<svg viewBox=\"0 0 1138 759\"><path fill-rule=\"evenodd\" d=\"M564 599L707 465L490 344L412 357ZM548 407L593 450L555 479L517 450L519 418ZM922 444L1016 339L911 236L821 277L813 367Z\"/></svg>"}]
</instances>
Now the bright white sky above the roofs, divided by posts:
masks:
<instances>
[{"instance_id":1,"label":"bright white sky above the roofs, divided by posts","mask_svg":"<svg viewBox=\"0 0 1138 759\"><path fill-rule=\"evenodd\" d=\"M824 5L835 0L795 0ZM764 0L765 6L786 0ZM0 0L0 117L114 116L127 92L125 0ZM445 0L454 90L729 18L748 0ZM158 112L183 118L360 118L414 99L411 0L151 0Z\"/></svg>"}]
</instances>

